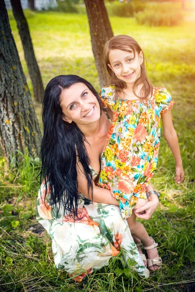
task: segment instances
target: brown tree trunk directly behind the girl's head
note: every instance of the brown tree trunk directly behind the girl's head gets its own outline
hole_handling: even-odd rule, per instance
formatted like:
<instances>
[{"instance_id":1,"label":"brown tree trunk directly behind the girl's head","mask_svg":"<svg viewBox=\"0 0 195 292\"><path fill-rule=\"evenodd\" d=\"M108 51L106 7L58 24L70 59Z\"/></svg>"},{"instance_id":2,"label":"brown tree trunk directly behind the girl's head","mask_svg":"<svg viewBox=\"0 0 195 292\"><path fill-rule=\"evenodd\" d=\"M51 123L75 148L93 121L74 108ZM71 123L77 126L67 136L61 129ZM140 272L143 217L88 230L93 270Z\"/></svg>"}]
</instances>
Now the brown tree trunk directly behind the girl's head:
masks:
<instances>
[{"instance_id":1,"label":"brown tree trunk directly behind the girl's head","mask_svg":"<svg viewBox=\"0 0 195 292\"><path fill-rule=\"evenodd\" d=\"M104 44L113 37L112 28L103 0L85 0L91 34L92 50L98 70L100 86L108 85L109 78L102 64Z\"/></svg>"}]
</instances>

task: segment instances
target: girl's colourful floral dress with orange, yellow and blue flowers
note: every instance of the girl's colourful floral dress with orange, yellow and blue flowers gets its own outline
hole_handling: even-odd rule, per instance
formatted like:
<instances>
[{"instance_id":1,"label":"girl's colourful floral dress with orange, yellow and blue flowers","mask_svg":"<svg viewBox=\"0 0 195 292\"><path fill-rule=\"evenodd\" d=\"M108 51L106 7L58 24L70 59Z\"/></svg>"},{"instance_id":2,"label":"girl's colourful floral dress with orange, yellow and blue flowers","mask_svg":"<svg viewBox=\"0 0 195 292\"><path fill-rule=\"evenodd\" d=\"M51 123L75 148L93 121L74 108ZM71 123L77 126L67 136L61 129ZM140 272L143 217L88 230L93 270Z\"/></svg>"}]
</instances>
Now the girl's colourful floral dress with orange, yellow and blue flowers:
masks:
<instances>
[{"instance_id":1,"label":"girl's colourful floral dress with orange, yellow and blue flowers","mask_svg":"<svg viewBox=\"0 0 195 292\"><path fill-rule=\"evenodd\" d=\"M115 86L102 88L100 97L113 111L113 122L101 157L98 186L111 190L119 201L122 218L128 218L137 198L146 199L158 159L160 117L174 102L156 87L148 102L119 99Z\"/></svg>"}]
</instances>

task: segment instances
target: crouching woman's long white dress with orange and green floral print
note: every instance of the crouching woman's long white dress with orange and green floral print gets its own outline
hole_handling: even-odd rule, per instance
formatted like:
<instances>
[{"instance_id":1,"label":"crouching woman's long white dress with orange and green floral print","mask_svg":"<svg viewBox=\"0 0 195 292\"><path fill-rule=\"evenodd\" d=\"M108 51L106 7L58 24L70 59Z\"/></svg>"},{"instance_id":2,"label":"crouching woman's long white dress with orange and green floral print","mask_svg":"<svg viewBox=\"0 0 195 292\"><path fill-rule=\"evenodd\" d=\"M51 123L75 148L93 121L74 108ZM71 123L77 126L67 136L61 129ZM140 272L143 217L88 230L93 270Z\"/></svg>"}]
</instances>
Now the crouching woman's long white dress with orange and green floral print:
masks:
<instances>
[{"instance_id":1,"label":"crouching woman's long white dress with orange and green floral print","mask_svg":"<svg viewBox=\"0 0 195 292\"><path fill-rule=\"evenodd\" d=\"M98 173L92 168L91 171L95 180ZM126 266L142 277L149 277L149 270L144 266L119 207L92 203L80 193L78 219L74 221L63 215L61 207L57 215L56 208L50 205L49 185L46 193L42 183L37 200L37 219L52 239L56 267L67 271L76 281L107 266L109 259L120 252Z\"/></svg>"}]
</instances>

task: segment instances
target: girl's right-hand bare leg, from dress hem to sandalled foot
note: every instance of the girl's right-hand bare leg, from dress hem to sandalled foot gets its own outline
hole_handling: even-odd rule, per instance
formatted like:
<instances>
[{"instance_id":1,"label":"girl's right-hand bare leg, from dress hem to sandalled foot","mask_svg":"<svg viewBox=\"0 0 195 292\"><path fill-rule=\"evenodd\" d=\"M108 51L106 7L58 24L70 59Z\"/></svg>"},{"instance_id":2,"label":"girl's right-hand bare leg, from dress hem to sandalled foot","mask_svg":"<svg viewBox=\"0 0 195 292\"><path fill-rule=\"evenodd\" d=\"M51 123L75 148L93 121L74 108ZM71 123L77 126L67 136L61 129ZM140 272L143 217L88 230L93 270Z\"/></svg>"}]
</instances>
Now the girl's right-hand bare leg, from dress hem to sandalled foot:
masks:
<instances>
[{"instance_id":1,"label":"girl's right-hand bare leg, from dress hem to sandalled foot","mask_svg":"<svg viewBox=\"0 0 195 292\"><path fill-rule=\"evenodd\" d=\"M136 215L134 212L129 218L127 218L127 222L132 235L140 239L144 246L150 246L153 244L153 240L149 237L145 227L140 222L136 221ZM157 249L153 248L151 250L147 250L147 255L148 258L155 258L158 256ZM159 268L159 266L154 265L150 267L150 270L154 271Z\"/></svg>"}]
</instances>

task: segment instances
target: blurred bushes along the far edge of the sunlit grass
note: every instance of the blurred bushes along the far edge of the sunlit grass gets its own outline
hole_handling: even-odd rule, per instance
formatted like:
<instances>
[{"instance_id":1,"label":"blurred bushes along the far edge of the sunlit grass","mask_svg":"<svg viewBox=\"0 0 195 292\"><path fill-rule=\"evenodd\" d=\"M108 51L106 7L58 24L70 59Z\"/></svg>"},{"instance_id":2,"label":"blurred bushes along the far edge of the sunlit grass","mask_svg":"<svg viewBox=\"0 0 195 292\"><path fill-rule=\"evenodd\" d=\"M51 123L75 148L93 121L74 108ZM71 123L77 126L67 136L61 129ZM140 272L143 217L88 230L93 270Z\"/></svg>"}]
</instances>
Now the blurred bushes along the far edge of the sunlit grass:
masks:
<instances>
[{"instance_id":1,"label":"blurred bushes along the far edge of the sunlit grass","mask_svg":"<svg viewBox=\"0 0 195 292\"><path fill-rule=\"evenodd\" d=\"M188 15L186 10L194 7L193 1L185 1L185 10L182 9L181 1L146 1L132 0L130 2L119 2L117 0L105 1L109 16L135 17L138 24L148 26L174 26L181 23L183 18ZM84 3L77 0L58 1L58 7L54 10L86 14Z\"/></svg>"}]
</instances>

